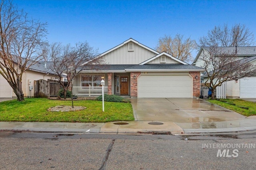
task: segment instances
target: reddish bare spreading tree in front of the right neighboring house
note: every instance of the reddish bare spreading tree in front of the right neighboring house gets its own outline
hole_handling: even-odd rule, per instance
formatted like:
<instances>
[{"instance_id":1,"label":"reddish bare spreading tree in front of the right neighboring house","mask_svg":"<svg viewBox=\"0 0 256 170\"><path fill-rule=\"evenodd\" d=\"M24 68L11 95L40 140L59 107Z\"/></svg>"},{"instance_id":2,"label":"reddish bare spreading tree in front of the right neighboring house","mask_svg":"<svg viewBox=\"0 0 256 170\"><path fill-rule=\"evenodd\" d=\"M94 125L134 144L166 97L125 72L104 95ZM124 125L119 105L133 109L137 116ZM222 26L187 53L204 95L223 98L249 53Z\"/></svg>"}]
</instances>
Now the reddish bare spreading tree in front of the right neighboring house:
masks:
<instances>
[{"instance_id":1,"label":"reddish bare spreading tree in front of the right neighboring house","mask_svg":"<svg viewBox=\"0 0 256 170\"><path fill-rule=\"evenodd\" d=\"M205 83L212 91L221 86L225 81L232 81L256 75L256 67L249 61L255 57L237 60L236 51L224 51L221 47L210 47L201 58L202 67L206 70L208 79ZM210 83L210 84L207 84Z\"/></svg>"}]
</instances>

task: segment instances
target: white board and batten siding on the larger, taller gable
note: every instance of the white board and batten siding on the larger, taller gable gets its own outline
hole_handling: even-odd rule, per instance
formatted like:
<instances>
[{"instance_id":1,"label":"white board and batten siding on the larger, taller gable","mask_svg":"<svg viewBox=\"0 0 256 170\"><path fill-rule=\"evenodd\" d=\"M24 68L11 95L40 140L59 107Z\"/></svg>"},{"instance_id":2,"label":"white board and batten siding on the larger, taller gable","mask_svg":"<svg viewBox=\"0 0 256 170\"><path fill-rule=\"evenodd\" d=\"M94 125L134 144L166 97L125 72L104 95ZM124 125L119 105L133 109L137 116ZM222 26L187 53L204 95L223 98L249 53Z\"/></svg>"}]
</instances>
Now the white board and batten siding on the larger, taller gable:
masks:
<instances>
[{"instance_id":1,"label":"white board and batten siding on the larger, taller gable","mask_svg":"<svg viewBox=\"0 0 256 170\"><path fill-rule=\"evenodd\" d=\"M128 43L103 55L106 64L140 64L157 54L134 43L134 51L128 51Z\"/></svg>"}]
</instances>

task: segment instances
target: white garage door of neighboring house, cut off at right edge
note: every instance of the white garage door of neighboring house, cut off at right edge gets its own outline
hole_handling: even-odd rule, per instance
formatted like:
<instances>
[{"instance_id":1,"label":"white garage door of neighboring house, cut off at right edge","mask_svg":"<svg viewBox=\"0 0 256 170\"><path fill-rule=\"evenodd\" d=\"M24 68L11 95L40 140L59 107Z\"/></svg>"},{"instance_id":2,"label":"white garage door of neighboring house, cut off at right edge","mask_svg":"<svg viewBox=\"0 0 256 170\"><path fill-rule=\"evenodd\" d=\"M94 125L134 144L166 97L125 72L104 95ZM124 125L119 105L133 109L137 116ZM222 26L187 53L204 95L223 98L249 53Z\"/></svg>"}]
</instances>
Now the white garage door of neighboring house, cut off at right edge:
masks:
<instances>
[{"instance_id":1,"label":"white garage door of neighboring house, cut off at right edge","mask_svg":"<svg viewBox=\"0 0 256 170\"><path fill-rule=\"evenodd\" d=\"M240 98L256 98L256 77L240 79Z\"/></svg>"}]
</instances>

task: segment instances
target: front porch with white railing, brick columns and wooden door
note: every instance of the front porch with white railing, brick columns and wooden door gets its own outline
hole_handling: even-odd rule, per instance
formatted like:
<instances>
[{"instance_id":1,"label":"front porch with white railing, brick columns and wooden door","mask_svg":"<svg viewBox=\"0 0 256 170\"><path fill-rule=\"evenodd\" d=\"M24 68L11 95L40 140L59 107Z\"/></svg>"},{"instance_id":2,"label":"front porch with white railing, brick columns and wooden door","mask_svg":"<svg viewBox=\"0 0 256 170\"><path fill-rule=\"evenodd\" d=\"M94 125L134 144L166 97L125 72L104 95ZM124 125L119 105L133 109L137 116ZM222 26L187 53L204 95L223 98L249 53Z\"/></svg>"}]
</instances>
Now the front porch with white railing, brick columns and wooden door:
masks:
<instances>
[{"instance_id":1,"label":"front porch with white railing, brick columns and wooden door","mask_svg":"<svg viewBox=\"0 0 256 170\"><path fill-rule=\"evenodd\" d=\"M76 77L73 94L76 96L100 96L100 81L105 81L104 94L137 97L137 76L134 73L81 73Z\"/></svg>"}]
</instances>

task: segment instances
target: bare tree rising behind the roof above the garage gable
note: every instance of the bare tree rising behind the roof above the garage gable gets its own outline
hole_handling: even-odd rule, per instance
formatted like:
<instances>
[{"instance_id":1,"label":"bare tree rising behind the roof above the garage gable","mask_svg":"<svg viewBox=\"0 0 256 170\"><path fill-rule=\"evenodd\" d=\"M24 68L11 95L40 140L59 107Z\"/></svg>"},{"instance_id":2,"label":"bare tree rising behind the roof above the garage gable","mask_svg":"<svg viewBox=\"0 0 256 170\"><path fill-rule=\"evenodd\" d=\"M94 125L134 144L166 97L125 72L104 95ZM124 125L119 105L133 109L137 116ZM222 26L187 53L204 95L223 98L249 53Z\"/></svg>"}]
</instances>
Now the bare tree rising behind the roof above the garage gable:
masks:
<instances>
[{"instance_id":1,"label":"bare tree rising behind the roof above the garage gable","mask_svg":"<svg viewBox=\"0 0 256 170\"><path fill-rule=\"evenodd\" d=\"M191 38L184 38L184 35L176 34L174 38L164 36L159 38L156 51L166 52L182 61L190 63L193 61L192 51L195 49L196 43Z\"/></svg>"}]
</instances>

